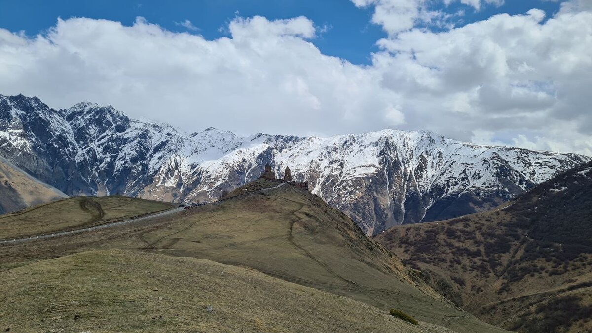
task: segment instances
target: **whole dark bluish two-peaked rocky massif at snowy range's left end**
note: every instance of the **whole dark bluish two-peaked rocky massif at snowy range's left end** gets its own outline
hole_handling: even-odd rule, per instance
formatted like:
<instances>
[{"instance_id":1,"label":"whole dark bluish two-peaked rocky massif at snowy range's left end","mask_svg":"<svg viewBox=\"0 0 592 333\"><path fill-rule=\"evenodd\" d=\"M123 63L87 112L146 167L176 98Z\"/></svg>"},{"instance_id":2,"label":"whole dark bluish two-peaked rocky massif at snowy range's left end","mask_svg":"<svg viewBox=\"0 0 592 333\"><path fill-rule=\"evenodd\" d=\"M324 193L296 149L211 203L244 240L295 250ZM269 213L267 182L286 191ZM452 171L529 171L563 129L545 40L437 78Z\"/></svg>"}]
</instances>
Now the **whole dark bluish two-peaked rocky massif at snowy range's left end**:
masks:
<instances>
[{"instance_id":1,"label":"whole dark bluish two-peaked rocky massif at snowy range's left end","mask_svg":"<svg viewBox=\"0 0 592 333\"><path fill-rule=\"evenodd\" d=\"M136 194L151 180L150 165L183 139L91 103L54 110L36 97L2 96L0 117L2 156L70 196Z\"/></svg>"}]
</instances>

